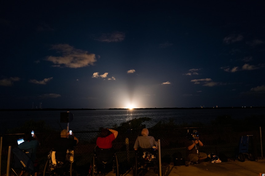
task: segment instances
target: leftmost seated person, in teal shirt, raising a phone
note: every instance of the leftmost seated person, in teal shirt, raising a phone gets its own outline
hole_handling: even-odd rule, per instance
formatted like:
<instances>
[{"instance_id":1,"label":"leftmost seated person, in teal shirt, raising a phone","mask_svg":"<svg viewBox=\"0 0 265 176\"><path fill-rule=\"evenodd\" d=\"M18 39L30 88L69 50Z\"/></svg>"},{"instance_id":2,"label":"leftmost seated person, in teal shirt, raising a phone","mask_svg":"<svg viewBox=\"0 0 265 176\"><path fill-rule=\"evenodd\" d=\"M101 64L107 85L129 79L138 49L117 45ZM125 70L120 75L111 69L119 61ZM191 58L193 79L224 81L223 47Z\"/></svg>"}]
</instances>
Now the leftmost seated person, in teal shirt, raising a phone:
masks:
<instances>
[{"instance_id":1,"label":"leftmost seated person, in teal shirt, raising a phone","mask_svg":"<svg viewBox=\"0 0 265 176\"><path fill-rule=\"evenodd\" d=\"M37 148L40 145L37 136L34 134L31 135L30 132L25 133L24 135L24 142L18 145L18 148L21 150L27 150L32 149L31 153L31 160L34 164L34 175L38 175L38 160L36 157ZM24 171L21 171L20 176L24 173Z\"/></svg>"}]
</instances>

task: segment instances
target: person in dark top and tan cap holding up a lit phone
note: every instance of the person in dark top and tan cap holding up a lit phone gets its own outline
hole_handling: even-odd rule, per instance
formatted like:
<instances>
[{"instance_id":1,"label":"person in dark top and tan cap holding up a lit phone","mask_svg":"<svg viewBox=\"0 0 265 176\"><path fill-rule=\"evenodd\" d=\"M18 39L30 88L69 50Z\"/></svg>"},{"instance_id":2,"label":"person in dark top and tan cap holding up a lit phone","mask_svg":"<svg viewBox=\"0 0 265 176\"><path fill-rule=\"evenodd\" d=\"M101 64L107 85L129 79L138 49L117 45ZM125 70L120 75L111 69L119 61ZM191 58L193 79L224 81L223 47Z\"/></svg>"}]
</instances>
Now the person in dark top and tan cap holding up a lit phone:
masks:
<instances>
[{"instance_id":1,"label":"person in dark top and tan cap holding up a lit phone","mask_svg":"<svg viewBox=\"0 0 265 176\"><path fill-rule=\"evenodd\" d=\"M72 133L72 138L68 138L69 132L66 129L61 131L61 137L53 142L53 151L55 151L55 158L57 161L63 162L63 167L67 166L69 162L65 162L67 149L73 150L73 147L78 144L77 137Z\"/></svg>"}]
</instances>

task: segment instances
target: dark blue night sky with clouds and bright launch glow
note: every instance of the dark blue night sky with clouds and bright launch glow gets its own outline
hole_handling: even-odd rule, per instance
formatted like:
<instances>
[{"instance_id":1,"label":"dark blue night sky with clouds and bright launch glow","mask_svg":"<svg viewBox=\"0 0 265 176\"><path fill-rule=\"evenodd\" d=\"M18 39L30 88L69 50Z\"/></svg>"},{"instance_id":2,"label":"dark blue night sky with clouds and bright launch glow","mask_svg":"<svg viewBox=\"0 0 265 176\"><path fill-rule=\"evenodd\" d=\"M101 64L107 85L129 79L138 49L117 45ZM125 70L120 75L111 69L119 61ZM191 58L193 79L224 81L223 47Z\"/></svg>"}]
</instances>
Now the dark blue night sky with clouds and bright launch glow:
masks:
<instances>
[{"instance_id":1,"label":"dark blue night sky with clouds and bright launch glow","mask_svg":"<svg viewBox=\"0 0 265 176\"><path fill-rule=\"evenodd\" d=\"M265 106L263 1L1 1L0 109Z\"/></svg>"}]
</instances>

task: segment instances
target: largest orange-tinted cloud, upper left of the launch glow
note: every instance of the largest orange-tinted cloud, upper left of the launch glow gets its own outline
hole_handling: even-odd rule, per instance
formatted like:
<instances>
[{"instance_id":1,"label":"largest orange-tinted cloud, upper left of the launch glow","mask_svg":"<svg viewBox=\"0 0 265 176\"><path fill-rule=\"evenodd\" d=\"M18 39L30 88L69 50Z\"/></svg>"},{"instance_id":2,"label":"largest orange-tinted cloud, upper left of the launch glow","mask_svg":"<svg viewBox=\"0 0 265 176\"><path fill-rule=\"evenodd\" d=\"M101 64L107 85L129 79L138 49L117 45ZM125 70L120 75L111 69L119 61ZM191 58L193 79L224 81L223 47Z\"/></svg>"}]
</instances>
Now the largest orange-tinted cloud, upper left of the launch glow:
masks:
<instances>
[{"instance_id":1,"label":"largest orange-tinted cloud, upper left of the launch glow","mask_svg":"<svg viewBox=\"0 0 265 176\"><path fill-rule=\"evenodd\" d=\"M96 62L95 54L75 49L68 44L53 45L52 50L57 50L62 56L48 56L47 61L53 62L54 67L81 68L93 65Z\"/></svg>"}]
</instances>

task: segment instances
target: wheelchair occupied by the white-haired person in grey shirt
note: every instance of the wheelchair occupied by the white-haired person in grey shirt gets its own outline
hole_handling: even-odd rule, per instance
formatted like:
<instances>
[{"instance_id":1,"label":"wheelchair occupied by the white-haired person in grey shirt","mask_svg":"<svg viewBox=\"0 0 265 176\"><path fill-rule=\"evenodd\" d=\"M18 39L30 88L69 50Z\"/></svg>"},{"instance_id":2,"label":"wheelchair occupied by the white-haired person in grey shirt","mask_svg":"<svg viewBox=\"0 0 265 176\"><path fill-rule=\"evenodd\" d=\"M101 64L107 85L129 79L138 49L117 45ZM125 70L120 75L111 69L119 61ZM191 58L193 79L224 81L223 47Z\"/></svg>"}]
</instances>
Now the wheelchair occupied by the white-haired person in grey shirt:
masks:
<instances>
[{"instance_id":1,"label":"wheelchair occupied by the white-haired person in grey shirt","mask_svg":"<svg viewBox=\"0 0 265 176\"><path fill-rule=\"evenodd\" d=\"M154 167L154 172L158 174L157 152L153 148L138 148L133 160L133 176L149 167Z\"/></svg>"}]
</instances>

